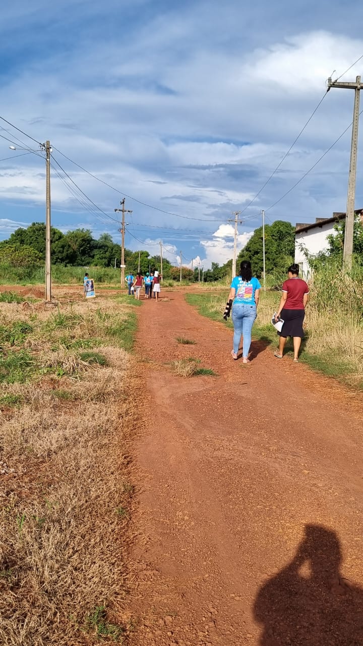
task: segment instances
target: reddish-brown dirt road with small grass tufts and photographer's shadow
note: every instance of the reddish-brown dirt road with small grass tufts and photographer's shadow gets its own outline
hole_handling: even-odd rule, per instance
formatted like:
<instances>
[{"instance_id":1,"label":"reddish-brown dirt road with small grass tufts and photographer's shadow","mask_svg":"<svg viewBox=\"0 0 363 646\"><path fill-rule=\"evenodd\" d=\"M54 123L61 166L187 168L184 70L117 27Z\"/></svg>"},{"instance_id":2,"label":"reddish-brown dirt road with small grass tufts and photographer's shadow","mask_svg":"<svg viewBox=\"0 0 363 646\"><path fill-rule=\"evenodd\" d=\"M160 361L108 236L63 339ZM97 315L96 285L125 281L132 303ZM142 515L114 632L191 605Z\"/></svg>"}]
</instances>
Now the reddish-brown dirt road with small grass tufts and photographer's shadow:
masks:
<instances>
[{"instance_id":1,"label":"reddish-brown dirt road with small grass tufts and photographer's shadow","mask_svg":"<svg viewBox=\"0 0 363 646\"><path fill-rule=\"evenodd\" d=\"M180 293L138 317L134 643L362 645L361 395L256 342L233 362Z\"/></svg>"}]
</instances>

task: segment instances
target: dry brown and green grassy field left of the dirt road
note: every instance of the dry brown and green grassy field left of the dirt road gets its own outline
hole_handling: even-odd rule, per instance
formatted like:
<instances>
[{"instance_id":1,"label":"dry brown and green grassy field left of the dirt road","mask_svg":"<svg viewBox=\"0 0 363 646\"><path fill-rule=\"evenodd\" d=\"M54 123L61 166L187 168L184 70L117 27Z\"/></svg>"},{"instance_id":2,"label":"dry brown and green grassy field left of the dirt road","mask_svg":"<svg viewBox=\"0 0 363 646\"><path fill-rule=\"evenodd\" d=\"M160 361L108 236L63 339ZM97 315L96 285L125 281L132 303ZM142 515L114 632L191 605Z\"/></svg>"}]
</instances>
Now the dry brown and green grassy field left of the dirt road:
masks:
<instances>
[{"instance_id":1,"label":"dry brown and green grassy field left of the dirt road","mask_svg":"<svg viewBox=\"0 0 363 646\"><path fill-rule=\"evenodd\" d=\"M0 302L0 643L126 644L136 302Z\"/></svg>"}]
</instances>

